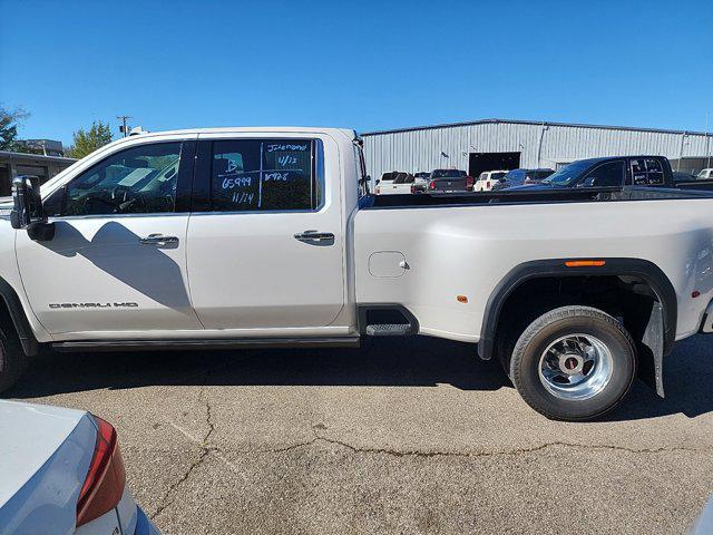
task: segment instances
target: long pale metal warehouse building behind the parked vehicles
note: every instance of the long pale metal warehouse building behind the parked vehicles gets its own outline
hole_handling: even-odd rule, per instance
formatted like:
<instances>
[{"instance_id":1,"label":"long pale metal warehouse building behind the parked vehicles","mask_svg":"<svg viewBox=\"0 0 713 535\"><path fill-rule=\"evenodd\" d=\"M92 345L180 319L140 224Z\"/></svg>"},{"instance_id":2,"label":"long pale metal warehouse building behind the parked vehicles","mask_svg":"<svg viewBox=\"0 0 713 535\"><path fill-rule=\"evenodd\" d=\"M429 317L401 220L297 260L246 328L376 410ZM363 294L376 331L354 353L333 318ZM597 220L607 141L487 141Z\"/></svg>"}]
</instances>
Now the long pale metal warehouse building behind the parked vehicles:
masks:
<instances>
[{"instance_id":1,"label":"long pale metal warehouse building behind the parked vehicles","mask_svg":"<svg viewBox=\"0 0 713 535\"><path fill-rule=\"evenodd\" d=\"M458 168L470 176L517 167L557 169L596 156L661 155L675 171L710 166L713 135L621 126L484 119L362 134L367 169L382 173Z\"/></svg>"}]
</instances>

